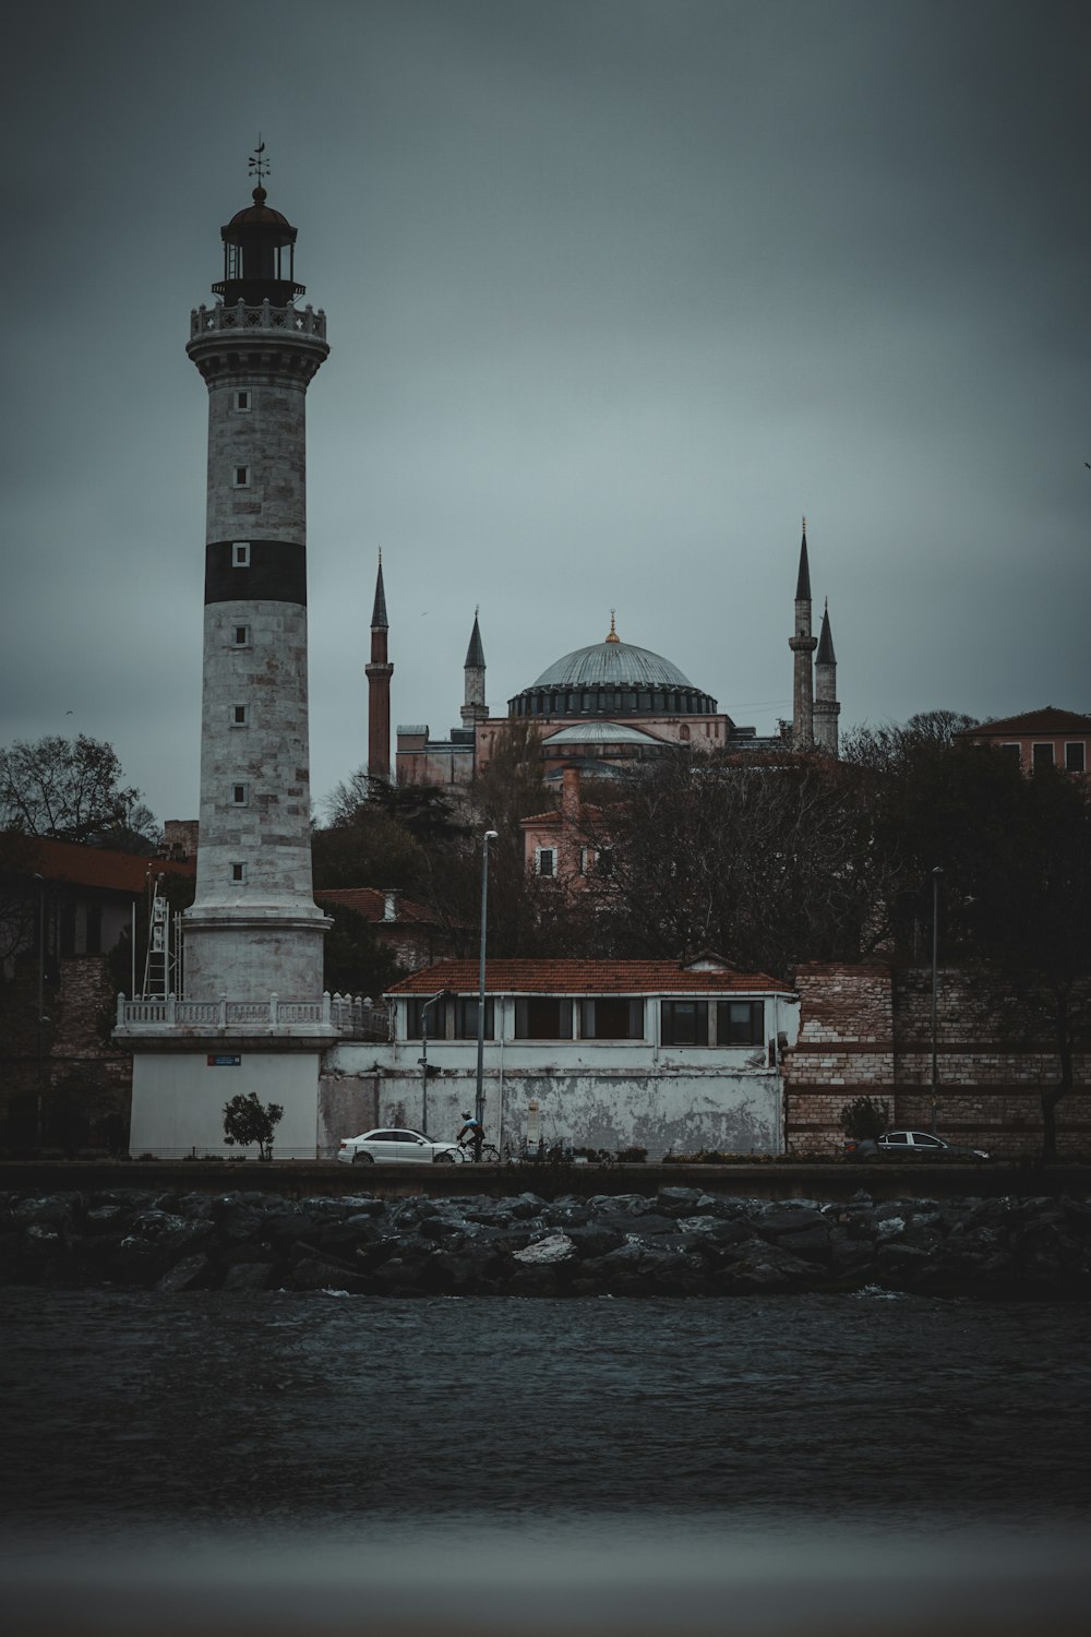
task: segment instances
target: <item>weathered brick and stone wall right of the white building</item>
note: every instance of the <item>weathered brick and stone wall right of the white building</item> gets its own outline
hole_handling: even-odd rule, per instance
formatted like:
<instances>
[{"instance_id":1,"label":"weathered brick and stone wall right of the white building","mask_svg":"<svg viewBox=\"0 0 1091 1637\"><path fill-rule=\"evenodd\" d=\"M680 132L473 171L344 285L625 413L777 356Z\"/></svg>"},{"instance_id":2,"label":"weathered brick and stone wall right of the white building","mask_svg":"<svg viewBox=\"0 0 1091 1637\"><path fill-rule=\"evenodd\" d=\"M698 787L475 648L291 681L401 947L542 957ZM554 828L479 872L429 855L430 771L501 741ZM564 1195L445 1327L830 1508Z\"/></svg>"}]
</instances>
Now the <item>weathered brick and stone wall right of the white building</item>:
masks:
<instances>
[{"instance_id":1,"label":"weathered brick and stone wall right of the white building","mask_svg":"<svg viewBox=\"0 0 1091 1637\"><path fill-rule=\"evenodd\" d=\"M795 974L800 1039L785 1053L788 1152L841 1148L841 1108L854 1097L890 1105L893 1126L931 1125L931 967L811 963ZM941 1136L993 1154L1042 1146L1042 1092L1058 1061L1047 1025L1011 985L944 967L937 985L937 1126ZM1076 1056L1076 1087L1057 1110L1063 1156L1091 1152L1091 1056Z\"/></svg>"}]
</instances>

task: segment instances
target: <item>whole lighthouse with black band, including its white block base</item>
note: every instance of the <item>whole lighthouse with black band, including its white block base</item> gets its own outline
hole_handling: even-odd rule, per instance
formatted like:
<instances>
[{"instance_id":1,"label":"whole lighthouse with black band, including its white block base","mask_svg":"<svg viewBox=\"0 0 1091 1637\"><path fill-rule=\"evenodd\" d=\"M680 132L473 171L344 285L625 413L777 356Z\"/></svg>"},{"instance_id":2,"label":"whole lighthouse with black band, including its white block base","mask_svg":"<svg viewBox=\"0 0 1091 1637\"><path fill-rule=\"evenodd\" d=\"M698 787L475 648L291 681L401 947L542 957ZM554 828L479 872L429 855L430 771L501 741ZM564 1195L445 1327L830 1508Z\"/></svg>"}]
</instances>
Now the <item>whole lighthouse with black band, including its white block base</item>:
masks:
<instances>
[{"instance_id":1,"label":"whole lighthouse with black band, including its white block base","mask_svg":"<svg viewBox=\"0 0 1091 1637\"><path fill-rule=\"evenodd\" d=\"M303 306L296 229L265 192L222 239L218 298L190 318L208 388L196 895L173 992L118 997L132 1048L132 1152L222 1154L224 1107L278 1103L278 1157L314 1159L322 1053L352 1021L322 992L330 920L311 879L306 396L329 357Z\"/></svg>"}]
</instances>

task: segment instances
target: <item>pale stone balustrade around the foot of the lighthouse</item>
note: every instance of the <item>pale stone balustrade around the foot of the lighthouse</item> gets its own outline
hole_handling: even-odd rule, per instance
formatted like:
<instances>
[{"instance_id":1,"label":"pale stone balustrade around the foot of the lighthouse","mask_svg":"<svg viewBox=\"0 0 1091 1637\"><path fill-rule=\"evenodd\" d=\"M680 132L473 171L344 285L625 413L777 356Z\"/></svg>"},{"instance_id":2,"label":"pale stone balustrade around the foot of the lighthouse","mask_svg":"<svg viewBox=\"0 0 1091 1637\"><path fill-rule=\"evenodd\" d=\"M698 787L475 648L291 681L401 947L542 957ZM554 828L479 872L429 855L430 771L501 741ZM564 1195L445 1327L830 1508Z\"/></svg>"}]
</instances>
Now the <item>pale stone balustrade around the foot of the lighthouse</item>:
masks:
<instances>
[{"instance_id":1,"label":"pale stone balustrade around the foot of the lighthouse","mask_svg":"<svg viewBox=\"0 0 1091 1637\"><path fill-rule=\"evenodd\" d=\"M160 1030L245 1030L252 1035L293 1028L334 1028L348 1039L388 1041L393 1038L393 1010L361 995L327 990L314 1000L182 1000L178 995L118 995L118 1023L126 1033Z\"/></svg>"}]
</instances>

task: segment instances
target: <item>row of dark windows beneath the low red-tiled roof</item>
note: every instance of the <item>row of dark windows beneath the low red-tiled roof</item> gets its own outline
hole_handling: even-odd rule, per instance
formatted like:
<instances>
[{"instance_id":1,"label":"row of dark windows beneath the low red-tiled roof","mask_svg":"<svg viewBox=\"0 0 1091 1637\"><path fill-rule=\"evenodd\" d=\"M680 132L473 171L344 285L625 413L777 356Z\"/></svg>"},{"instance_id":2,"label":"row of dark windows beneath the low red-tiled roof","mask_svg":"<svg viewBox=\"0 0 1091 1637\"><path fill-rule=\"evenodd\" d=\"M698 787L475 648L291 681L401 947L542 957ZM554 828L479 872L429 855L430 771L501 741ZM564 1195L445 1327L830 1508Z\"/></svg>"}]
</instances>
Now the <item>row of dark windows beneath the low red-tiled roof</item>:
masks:
<instances>
[{"instance_id":1,"label":"row of dark windows beneath the low red-tiled roof","mask_svg":"<svg viewBox=\"0 0 1091 1637\"><path fill-rule=\"evenodd\" d=\"M427 1015L425 1015L427 1005ZM406 1038L476 1039L478 1000L453 995L406 1005ZM496 1038L496 1010L484 1003L484 1038ZM644 1002L626 995L569 999L515 997L515 1039L643 1039ZM661 1000L659 1038L664 1046L762 1046L764 1000Z\"/></svg>"}]
</instances>

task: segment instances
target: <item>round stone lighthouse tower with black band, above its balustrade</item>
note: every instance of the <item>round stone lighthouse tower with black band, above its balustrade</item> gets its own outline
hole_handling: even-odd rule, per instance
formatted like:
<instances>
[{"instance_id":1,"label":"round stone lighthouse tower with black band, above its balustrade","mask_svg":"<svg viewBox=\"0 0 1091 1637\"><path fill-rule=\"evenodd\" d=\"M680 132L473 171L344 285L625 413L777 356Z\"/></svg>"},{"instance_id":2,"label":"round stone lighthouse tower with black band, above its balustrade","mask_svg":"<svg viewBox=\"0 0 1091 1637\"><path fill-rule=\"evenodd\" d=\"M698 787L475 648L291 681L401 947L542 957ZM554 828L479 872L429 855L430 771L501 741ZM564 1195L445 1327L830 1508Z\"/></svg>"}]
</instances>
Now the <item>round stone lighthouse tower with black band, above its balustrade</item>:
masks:
<instances>
[{"instance_id":1,"label":"round stone lighthouse tower with black band, above its balustrade","mask_svg":"<svg viewBox=\"0 0 1091 1637\"><path fill-rule=\"evenodd\" d=\"M308 386L326 316L298 308L296 229L254 203L221 229L221 300L191 319L208 386L201 830L185 913L190 1000L317 1000L330 925L311 891ZM211 1059L209 1059L211 1061Z\"/></svg>"}]
</instances>

